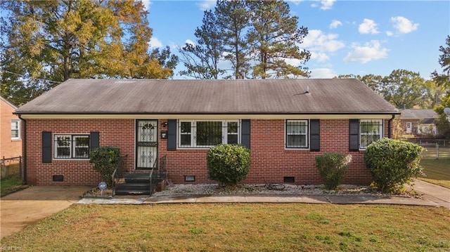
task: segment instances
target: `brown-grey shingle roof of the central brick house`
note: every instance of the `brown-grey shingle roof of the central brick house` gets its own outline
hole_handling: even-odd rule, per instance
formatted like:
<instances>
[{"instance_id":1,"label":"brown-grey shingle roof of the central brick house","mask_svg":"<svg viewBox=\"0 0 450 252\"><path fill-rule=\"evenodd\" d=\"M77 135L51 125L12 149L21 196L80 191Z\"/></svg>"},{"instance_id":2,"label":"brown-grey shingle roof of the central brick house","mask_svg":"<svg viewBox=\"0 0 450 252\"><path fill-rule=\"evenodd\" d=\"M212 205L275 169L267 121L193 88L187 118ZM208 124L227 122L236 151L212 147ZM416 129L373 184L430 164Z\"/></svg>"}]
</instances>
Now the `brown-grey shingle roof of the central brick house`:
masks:
<instances>
[{"instance_id":1,"label":"brown-grey shingle roof of the central brick house","mask_svg":"<svg viewBox=\"0 0 450 252\"><path fill-rule=\"evenodd\" d=\"M392 114L398 110L356 79L69 79L16 113Z\"/></svg>"}]
</instances>

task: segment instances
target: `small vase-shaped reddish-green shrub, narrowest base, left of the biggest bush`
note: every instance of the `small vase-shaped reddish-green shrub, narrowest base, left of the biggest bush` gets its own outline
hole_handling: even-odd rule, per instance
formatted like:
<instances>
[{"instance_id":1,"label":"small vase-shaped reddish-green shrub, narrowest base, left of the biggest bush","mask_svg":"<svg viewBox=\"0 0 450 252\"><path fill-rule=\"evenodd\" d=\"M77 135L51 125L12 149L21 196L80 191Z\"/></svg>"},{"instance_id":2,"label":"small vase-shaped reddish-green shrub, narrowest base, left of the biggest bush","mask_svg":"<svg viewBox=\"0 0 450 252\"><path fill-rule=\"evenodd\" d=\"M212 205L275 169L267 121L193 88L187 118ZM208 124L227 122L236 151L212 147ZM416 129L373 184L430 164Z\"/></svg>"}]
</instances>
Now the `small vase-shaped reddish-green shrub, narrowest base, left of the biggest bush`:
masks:
<instances>
[{"instance_id":1,"label":"small vase-shaped reddish-green shrub, narrowest base, left of the biggest bush","mask_svg":"<svg viewBox=\"0 0 450 252\"><path fill-rule=\"evenodd\" d=\"M335 190L342 183L351 161L352 155L342 153L326 153L316 157L316 167L326 190Z\"/></svg>"}]
</instances>

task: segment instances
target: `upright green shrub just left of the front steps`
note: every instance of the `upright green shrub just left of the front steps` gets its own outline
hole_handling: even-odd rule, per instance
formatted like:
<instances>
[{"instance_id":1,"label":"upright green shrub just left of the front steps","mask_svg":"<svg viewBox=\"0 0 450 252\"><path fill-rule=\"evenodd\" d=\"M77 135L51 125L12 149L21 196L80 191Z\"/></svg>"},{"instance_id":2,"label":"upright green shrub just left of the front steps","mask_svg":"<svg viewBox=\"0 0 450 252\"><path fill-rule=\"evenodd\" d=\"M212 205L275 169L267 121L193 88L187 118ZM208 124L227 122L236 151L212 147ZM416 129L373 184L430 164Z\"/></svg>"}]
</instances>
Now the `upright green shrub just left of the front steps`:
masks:
<instances>
[{"instance_id":1,"label":"upright green shrub just left of the front steps","mask_svg":"<svg viewBox=\"0 0 450 252\"><path fill-rule=\"evenodd\" d=\"M91 160L89 162L94 164L94 170L101 174L101 178L108 186L113 185L113 172L122 161L120 157L120 149L118 147L98 147L91 151Z\"/></svg>"}]
</instances>

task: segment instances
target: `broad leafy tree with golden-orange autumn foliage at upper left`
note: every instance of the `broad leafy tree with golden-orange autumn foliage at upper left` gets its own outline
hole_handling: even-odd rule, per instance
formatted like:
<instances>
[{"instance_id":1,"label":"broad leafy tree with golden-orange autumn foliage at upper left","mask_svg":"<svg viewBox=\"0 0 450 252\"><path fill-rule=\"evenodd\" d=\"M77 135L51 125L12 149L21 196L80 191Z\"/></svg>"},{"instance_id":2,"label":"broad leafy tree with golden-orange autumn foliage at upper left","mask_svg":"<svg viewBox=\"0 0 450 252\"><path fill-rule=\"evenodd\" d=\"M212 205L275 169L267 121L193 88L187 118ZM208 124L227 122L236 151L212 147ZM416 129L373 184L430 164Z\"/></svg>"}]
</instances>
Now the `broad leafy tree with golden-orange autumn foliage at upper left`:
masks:
<instances>
[{"instance_id":1,"label":"broad leafy tree with golden-orange autumn foliage at upper left","mask_svg":"<svg viewBox=\"0 0 450 252\"><path fill-rule=\"evenodd\" d=\"M1 95L17 105L70 78L172 77L169 48L150 51L141 1L1 1Z\"/></svg>"}]
</instances>

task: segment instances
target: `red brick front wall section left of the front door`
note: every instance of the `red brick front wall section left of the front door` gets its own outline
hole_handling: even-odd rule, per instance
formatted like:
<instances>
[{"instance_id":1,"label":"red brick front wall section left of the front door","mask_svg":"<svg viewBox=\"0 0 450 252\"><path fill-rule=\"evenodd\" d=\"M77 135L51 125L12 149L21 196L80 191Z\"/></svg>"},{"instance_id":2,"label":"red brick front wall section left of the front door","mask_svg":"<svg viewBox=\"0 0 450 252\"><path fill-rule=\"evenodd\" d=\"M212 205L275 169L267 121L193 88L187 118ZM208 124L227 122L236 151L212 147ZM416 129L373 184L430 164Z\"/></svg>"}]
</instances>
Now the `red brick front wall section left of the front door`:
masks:
<instances>
[{"instance_id":1,"label":"red brick front wall section left of the front door","mask_svg":"<svg viewBox=\"0 0 450 252\"><path fill-rule=\"evenodd\" d=\"M101 146L120 147L124 167L134 167L133 119L29 119L27 120L27 183L29 185L98 185L99 173L89 160L53 160L42 164L42 131L53 134L89 134L100 131ZM53 155L53 149L52 149ZM53 156L52 156L53 157ZM63 182L53 182L53 175L64 175Z\"/></svg>"}]
</instances>

